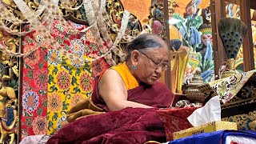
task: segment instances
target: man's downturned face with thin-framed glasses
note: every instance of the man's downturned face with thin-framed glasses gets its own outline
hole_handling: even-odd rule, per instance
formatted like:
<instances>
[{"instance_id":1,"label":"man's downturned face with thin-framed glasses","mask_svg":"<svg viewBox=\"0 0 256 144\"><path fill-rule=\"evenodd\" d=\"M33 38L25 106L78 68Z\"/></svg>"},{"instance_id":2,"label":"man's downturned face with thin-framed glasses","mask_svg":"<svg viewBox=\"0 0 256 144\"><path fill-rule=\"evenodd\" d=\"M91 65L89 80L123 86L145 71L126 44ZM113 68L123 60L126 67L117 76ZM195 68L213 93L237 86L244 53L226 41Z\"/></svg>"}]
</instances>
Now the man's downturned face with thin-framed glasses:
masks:
<instances>
[{"instance_id":1,"label":"man's downturned face with thin-framed glasses","mask_svg":"<svg viewBox=\"0 0 256 144\"><path fill-rule=\"evenodd\" d=\"M166 47L139 54L138 68L135 74L139 81L148 85L154 84L170 64Z\"/></svg>"}]
</instances>

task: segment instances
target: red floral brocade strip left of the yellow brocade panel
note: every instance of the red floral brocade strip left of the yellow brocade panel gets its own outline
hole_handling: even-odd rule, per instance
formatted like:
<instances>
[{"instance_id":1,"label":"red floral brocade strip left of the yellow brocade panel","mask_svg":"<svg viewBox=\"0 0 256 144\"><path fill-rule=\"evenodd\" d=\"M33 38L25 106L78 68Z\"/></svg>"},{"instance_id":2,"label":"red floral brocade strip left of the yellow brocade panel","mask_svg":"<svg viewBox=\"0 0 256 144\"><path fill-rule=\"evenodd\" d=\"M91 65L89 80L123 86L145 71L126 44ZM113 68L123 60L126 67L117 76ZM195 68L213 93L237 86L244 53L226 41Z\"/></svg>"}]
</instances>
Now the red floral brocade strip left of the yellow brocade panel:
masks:
<instances>
[{"instance_id":1,"label":"red floral brocade strip left of the yellow brocade panel","mask_svg":"<svg viewBox=\"0 0 256 144\"><path fill-rule=\"evenodd\" d=\"M35 33L27 34L22 40L24 53L33 50ZM46 134L47 113L47 51L34 51L22 63L22 138L28 135Z\"/></svg>"}]
</instances>

